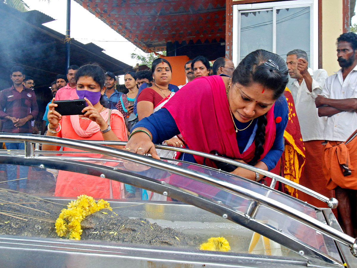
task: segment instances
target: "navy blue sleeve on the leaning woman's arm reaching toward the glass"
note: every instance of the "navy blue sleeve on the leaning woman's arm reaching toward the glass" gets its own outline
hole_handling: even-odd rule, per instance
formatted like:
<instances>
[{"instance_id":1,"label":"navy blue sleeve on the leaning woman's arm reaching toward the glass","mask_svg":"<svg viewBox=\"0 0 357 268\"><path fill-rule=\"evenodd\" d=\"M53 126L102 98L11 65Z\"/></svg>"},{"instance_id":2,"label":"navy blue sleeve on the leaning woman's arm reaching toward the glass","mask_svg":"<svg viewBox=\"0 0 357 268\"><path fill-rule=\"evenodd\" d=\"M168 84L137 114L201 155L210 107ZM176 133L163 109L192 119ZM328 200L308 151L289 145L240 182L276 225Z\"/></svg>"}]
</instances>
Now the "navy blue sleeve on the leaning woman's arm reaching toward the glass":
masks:
<instances>
[{"instance_id":1,"label":"navy blue sleeve on the leaning woman's arm reaching toward the glass","mask_svg":"<svg viewBox=\"0 0 357 268\"><path fill-rule=\"evenodd\" d=\"M152 142L155 144L162 143L164 140L171 139L175 135L180 134L174 118L165 108L161 108L150 116L140 120L132 131L135 131L138 127L148 129L152 134Z\"/></svg>"}]
</instances>

